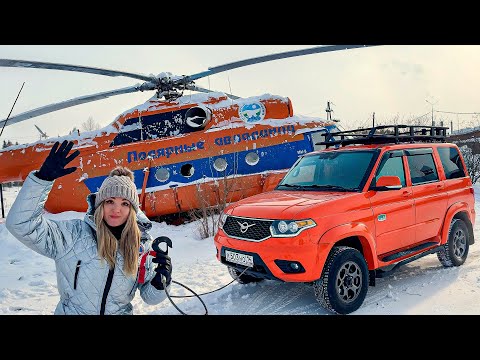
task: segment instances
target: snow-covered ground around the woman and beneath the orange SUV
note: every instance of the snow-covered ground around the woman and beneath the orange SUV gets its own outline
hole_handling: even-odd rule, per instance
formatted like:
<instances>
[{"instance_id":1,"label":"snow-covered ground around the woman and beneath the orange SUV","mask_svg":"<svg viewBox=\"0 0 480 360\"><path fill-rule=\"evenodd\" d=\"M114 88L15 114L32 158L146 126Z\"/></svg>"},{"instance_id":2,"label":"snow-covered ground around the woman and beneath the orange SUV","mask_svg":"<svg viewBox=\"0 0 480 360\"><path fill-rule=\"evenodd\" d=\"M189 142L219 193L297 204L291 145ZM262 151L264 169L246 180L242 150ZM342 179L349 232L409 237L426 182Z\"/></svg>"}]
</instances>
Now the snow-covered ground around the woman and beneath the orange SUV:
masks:
<instances>
[{"instance_id":1,"label":"snow-covered ground around the woman and beneath the orange SUV","mask_svg":"<svg viewBox=\"0 0 480 360\"><path fill-rule=\"evenodd\" d=\"M19 188L4 188L5 211ZM480 213L480 185L475 186L476 210ZM1 214L0 214L1 215ZM84 213L47 214L55 219L83 218ZM155 222L151 234L172 239L169 255L174 281L198 295L210 315L330 315L320 307L313 288L305 284L266 280L241 285L232 282L226 267L215 258L213 237L201 239L198 223L180 226ZM444 268L435 254L404 265L370 287L362 307L352 315L467 315L480 314L480 224L476 243L463 266ZM219 290L217 290L219 289ZM203 295L205 294L205 295ZM202 302L178 284L172 300L186 314L202 315ZM185 297L173 297L185 296ZM54 262L17 241L0 220L0 314L53 314L59 300ZM135 315L178 315L166 299L150 306L137 293Z\"/></svg>"}]
</instances>

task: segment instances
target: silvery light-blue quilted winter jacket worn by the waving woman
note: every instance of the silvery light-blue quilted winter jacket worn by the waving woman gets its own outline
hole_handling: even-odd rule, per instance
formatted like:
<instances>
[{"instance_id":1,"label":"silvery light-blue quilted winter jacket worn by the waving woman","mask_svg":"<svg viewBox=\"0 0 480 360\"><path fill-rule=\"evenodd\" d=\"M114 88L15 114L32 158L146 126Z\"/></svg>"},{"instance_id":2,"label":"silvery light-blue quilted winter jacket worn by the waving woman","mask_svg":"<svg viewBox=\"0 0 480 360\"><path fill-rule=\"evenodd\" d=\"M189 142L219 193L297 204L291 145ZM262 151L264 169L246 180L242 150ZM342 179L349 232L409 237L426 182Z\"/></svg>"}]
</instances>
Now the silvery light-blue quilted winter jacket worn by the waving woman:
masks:
<instances>
[{"instance_id":1,"label":"silvery light-blue quilted winter jacket worn by the waving woman","mask_svg":"<svg viewBox=\"0 0 480 360\"><path fill-rule=\"evenodd\" d=\"M51 220L45 218L44 204L53 181L37 178L32 171L26 178L12 205L6 227L23 244L55 260L60 301L55 314L133 314L131 301L136 290L149 305L165 300L166 293L150 284L156 264L149 252L152 223L139 210L137 223L142 232L137 277L123 272L123 257L117 252L111 282L109 267L97 254L96 226L93 221L95 194L87 197L88 211L83 220ZM110 285L108 286L107 285ZM167 287L168 290L168 287Z\"/></svg>"}]
</instances>

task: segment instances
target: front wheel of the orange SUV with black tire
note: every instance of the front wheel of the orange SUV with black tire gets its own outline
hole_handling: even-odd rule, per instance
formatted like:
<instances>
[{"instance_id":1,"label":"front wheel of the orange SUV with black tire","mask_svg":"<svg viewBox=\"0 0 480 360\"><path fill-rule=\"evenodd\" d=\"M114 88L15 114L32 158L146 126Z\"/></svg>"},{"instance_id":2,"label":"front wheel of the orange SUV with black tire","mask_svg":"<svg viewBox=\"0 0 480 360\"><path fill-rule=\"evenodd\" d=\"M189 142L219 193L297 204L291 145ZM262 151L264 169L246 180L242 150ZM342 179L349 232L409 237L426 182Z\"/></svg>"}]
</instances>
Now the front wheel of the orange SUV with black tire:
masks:
<instances>
[{"instance_id":1,"label":"front wheel of the orange SUV with black tire","mask_svg":"<svg viewBox=\"0 0 480 360\"><path fill-rule=\"evenodd\" d=\"M368 291L368 266L356 249L334 247L320 279L313 283L315 298L325 309L349 314L362 306Z\"/></svg>"}]
</instances>

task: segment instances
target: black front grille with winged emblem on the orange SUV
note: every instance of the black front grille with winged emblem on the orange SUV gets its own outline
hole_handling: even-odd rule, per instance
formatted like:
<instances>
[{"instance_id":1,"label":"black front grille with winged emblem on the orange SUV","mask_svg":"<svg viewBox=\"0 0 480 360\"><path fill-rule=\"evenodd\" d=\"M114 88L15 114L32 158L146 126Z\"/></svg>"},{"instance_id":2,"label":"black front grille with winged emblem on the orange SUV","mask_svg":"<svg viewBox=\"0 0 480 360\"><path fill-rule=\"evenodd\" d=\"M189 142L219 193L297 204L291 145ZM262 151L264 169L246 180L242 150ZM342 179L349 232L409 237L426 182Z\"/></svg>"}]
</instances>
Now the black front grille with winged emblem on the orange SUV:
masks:
<instances>
[{"instance_id":1,"label":"black front grille with winged emblem on the orange SUV","mask_svg":"<svg viewBox=\"0 0 480 360\"><path fill-rule=\"evenodd\" d=\"M270 233L272 223L273 220L228 216L223 231L235 239L263 241L272 236Z\"/></svg>"}]
</instances>

